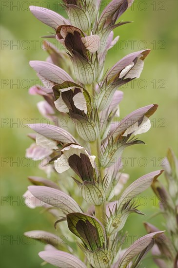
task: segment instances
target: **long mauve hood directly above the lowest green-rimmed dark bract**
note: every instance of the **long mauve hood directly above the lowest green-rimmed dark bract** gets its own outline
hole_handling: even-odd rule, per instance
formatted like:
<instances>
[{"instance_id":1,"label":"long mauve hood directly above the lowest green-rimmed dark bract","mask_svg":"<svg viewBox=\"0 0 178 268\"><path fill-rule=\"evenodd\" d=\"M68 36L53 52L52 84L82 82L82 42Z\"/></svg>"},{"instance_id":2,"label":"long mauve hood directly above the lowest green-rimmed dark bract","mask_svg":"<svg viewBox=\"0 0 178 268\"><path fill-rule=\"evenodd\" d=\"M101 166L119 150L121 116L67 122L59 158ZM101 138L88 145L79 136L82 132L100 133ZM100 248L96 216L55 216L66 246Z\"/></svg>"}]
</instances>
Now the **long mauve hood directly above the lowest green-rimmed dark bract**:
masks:
<instances>
[{"instance_id":1,"label":"long mauve hood directly above the lowest green-rimmed dark bract","mask_svg":"<svg viewBox=\"0 0 178 268\"><path fill-rule=\"evenodd\" d=\"M77 202L62 191L46 186L29 186L28 190L41 202L59 208L65 213L82 212Z\"/></svg>"}]
</instances>

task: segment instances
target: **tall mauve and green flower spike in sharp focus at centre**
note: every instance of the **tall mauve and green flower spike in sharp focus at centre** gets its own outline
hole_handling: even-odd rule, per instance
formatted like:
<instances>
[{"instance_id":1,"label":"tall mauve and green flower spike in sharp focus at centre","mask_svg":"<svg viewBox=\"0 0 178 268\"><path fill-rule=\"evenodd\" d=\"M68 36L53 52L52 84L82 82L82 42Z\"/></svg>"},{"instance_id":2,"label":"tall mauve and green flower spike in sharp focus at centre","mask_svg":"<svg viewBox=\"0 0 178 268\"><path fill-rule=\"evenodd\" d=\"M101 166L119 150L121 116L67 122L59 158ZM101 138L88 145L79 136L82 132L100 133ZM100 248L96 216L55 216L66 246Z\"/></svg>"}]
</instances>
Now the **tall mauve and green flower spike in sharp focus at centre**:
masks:
<instances>
[{"instance_id":1,"label":"tall mauve and green flower spike in sharp focus at centre","mask_svg":"<svg viewBox=\"0 0 178 268\"><path fill-rule=\"evenodd\" d=\"M40 168L48 178L53 172L56 182L29 177L33 185L24 198L30 208L42 207L54 215L55 228L59 234L66 231L68 243L46 231L25 235L45 242L40 257L60 268L138 267L162 233L155 231L121 249L122 229L130 213L143 214L137 195L155 184L162 173L146 174L122 191L129 178L121 171L122 152L144 144L136 135L150 129L149 117L158 107L150 104L119 118L123 93L118 89L140 76L150 50L123 57L103 75L106 54L119 39L113 39L113 30L129 22L117 20L132 2L112 0L100 13L100 0L63 0L69 19L30 6L37 19L52 27L54 33L49 37L56 38L64 51L44 41L47 60L30 61L42 84L29 93L44 98L38 103L43 116L55 122L67 118L68 131L54 124L29 125L36 134L29 134L34 143L26 156L44 158Z\"/></svg>"}]
</instances>

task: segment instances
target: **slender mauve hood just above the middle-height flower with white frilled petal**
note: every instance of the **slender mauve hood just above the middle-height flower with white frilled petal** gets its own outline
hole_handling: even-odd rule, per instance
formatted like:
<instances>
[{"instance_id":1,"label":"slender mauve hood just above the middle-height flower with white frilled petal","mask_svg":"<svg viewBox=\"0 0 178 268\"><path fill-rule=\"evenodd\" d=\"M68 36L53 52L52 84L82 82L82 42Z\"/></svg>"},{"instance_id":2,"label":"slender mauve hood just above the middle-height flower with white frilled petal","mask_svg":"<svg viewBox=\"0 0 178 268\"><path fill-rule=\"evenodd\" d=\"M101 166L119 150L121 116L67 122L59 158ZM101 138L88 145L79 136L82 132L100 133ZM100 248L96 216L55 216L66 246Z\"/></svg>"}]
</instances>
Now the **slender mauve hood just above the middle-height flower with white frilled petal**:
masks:
<instances>
[{"instance_id":1,"label":"slender mauve hood just above the middle-height flower with white frilled petal","mask_svg":"<svg viewBox=\"0 0 178 268\"><path fill-rule=\"evenodd\" d=\"M76 139L70 133L54 125L47 125L43 127L43 125L41 124L31 124L29 125L29 127L34 131L36 131L37 133L47 138L58 140L63 144L77 143Z\"/></svg>"}]
</instances>

